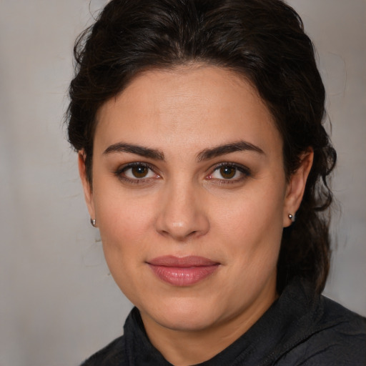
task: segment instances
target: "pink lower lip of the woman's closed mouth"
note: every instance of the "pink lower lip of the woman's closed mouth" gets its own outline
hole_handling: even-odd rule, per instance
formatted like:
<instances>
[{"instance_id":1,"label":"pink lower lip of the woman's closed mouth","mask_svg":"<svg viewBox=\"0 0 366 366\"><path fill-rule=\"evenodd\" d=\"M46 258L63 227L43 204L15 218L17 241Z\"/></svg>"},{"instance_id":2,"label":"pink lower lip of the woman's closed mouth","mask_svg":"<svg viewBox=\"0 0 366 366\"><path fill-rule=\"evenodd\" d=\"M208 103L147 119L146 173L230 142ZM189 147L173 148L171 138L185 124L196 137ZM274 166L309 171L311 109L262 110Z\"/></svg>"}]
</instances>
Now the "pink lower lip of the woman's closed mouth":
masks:
<instances>
[{"instance_id":1,"label":"pink lower lip of the woman's closed mouth","mask_svg":"<svg viewBox=\"0 0 366 366\"><path fill-rule=\"evenodd\" d=\"M194 285L209 277L217 270L219 264L197 267L166 267L154 264L149 264L149 266L160 280L170 285L184 287Z\"/></svg>"}]
</instances>

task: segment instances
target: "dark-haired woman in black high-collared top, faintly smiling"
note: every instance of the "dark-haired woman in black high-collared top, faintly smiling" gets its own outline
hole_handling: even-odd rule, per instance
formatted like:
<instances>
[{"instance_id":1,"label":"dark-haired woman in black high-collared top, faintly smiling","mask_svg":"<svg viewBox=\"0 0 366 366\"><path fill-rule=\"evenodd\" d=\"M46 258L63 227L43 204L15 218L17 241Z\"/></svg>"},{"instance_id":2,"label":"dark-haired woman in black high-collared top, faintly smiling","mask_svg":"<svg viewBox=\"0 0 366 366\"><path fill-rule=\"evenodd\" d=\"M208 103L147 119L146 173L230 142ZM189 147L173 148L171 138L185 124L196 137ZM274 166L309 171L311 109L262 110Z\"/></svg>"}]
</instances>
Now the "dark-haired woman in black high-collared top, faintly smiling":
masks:
<instances>
[{"instance_id":1,"label":"dark-haired woman in black high-collared top, faintly smiling","mask_svg":"<svg viewBox=\"0 0 366 366\"><path fill-rule=\"evenodd\" d=\"M336 154L295 11L112 0L75 55L69 140L136 306L84 365L365 363L365 320L320 295Z\"/></svg>"}]
</instances>

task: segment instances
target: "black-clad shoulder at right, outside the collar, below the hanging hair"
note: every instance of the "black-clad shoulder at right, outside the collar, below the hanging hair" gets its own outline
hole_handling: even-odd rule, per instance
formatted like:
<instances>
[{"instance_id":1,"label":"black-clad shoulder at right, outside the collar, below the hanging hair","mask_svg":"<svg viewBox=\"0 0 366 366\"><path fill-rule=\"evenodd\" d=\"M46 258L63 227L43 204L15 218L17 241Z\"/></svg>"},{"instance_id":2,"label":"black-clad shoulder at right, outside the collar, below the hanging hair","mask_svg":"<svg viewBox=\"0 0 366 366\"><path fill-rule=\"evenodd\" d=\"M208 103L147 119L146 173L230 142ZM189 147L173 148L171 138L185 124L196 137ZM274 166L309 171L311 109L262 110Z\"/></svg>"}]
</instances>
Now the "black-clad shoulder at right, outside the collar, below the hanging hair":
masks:
<instances>
[{"instance_id":1,"label":"black-clad shoulder at right, outside the collar, below the hanging hair","mask_svg":"<svg viewBox=\"0 0 366 366\"><path fill-rule=\"evenodd\" d=\"M366 318L320 297L310 327L277 365L366 365Z\"/></svg>"}]
</instances>

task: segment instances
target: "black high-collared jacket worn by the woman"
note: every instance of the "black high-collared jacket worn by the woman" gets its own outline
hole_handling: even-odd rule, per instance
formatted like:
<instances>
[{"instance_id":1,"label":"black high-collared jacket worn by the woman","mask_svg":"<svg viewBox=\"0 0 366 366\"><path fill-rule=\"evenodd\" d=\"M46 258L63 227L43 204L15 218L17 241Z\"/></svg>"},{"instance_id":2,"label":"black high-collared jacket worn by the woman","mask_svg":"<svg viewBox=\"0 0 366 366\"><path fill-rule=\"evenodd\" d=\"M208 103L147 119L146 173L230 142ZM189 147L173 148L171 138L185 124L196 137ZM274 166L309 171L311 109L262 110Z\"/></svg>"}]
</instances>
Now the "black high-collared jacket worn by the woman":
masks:
<instances>
[{"instance_id":1,"label":"black high-collared jacket worn by the woman","mask_svg":"<svg viewBox=\"0 0 366 366\"><path fill-rule=\"evenodd\" d=\"M172 364L149 342L139 310L134 308L124 335L81 366L153 365ZM199 365L366 365L366 319L295 280L242 337Z\"/></svg>"}]
</instances>

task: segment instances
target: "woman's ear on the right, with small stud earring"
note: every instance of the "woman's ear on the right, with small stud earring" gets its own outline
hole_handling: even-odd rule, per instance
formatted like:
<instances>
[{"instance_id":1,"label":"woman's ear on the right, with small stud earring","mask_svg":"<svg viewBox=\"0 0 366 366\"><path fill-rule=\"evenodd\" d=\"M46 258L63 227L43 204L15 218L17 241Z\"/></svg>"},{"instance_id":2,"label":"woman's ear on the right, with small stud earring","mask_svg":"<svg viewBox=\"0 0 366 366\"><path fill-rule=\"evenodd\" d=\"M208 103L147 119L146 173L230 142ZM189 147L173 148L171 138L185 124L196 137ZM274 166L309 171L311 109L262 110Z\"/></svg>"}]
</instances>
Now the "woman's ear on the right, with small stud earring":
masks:
<instances>
[{"instance_id":1,"label":"woman's ear on the right, with small stud earring","mask_svg":"<svg viewBox=\"0 0 366 366\"><path fill-rule=\"evenodd\" d=\"M283 227L288 227L292 224L289 214L295 217L297 209L299 209L302 197L305 192L307 177L309 176L314 159L314 151L312 148L307 149L301 156L300 167L290 177L290 182L287 184L285 204L283 211Z\"/></svg>"}]
</instances>

